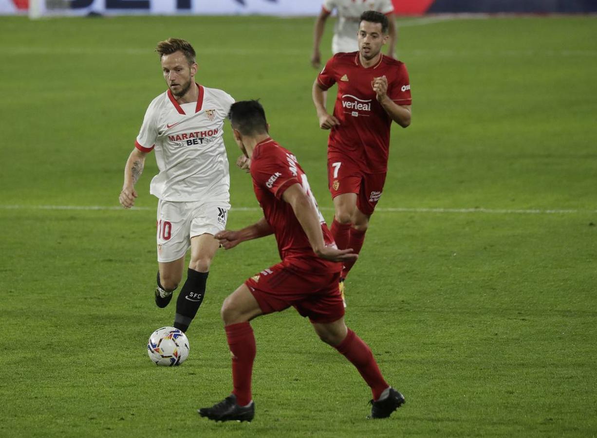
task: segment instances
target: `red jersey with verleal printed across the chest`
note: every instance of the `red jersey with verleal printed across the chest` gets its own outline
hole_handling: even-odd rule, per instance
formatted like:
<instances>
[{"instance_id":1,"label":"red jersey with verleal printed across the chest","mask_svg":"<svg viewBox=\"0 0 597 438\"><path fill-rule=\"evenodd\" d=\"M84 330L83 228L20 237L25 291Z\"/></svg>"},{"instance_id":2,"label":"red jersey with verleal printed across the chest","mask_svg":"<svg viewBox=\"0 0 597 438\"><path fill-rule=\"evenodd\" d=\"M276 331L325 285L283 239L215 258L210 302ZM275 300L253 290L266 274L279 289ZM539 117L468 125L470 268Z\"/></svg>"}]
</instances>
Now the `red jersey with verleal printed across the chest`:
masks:
<instances>
[{"instance_id":1,"label":"red jersey with verleal printed across the chest","mask_svg":"<svg viewBox=\"0 0 597 438\"><path fill-rule=\"evenodd\" d=\"M365 68L358 52L338 53L317 77L324 90L338 84L334 116L340 125L331 129L328 150L349 154L368 173L387 171L392 119L371 86L374 78L384 75L388 97L398 105L410 105L407 67L385 55L376 65Z\"/></svg>"}]
</instances>

